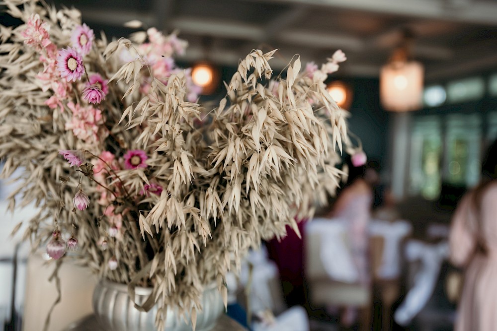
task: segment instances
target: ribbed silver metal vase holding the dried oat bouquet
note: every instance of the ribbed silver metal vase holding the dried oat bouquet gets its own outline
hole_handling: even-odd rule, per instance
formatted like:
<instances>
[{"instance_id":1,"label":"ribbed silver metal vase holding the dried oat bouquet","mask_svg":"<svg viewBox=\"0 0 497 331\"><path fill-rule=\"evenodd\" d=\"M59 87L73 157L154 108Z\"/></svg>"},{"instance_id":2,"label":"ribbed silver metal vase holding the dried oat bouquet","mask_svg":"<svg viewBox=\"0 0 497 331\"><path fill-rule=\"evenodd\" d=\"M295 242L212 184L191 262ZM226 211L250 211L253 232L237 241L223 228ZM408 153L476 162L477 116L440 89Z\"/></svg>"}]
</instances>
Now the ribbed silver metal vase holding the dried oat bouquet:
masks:
<instances>
[{"instance_id":1,"label":"ribbed silver metal vase holding the dried oat bouquet","mask_svg":"<svg viewBox=\"0 0 497 331\"><path fill-rule=\"evenodd\" d=\"M152 292L152 288L137 287L135 301L142 303ZM202 295L203 310L197 313L196 331L209 331L216 325L217 319L224 313L224 304L215 283L207 286ZM93 310L106 331L157 331L154 323L157 306L148 312L135 308L128 296L124 284L100 280L93 291ZM165 331L192 330L190 318L188 323L178 316L177 309L167 310Z\"/></svg>"}]
</instances>

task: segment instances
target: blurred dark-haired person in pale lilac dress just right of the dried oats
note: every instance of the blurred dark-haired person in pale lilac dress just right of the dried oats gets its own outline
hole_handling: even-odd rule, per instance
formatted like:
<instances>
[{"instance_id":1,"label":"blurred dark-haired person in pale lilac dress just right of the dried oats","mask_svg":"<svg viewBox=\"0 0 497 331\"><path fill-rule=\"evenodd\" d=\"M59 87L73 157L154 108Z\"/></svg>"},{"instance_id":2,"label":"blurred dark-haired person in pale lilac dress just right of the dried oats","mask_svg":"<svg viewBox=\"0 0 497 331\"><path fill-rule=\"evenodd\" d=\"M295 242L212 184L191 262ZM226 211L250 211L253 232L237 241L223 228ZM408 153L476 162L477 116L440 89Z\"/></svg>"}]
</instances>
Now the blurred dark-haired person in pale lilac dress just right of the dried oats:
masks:
<instances>
[{"instance_id":1,"label":"blurred dark-haired person in pale lilac dress just right of the dried oats","mask_svg":"<svg viewBox=\"0 0 497 331\"><path fill-rule=\"evenodd\" d=\"M347 158L346 165L349 171L347 183L340 191L328 217L346 222L347 244L358 273L358 283L370 287L368 225L373 203L373 185L378 181L378 174L367 165L355 163L353 158ZM341 324L350 327L356 320L357 308L345 307L341 314Z\"/></svg>"}]
</instances>

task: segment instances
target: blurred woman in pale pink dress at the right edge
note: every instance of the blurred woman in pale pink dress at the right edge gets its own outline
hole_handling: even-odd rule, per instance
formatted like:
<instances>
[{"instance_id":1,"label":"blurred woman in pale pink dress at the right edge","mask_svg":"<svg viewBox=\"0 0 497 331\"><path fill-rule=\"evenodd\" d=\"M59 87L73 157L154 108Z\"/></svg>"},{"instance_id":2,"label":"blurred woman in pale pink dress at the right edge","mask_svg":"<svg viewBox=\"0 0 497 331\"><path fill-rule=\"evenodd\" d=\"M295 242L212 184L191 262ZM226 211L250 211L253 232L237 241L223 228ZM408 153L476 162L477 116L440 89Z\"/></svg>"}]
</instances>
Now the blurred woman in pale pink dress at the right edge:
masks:
<instances>
[{"instance_id":1,"label":"blurred woman in pale pink dress at the right edge","mask_svg":"<svg viewBox=\"0 0 497 331\"><path fill-rule=\"evenodd\" d=\"M463 197L450 232L451 260L465 269L456 331L497 330L497 141L482 183Z\"/></svg>"}]
</instances>

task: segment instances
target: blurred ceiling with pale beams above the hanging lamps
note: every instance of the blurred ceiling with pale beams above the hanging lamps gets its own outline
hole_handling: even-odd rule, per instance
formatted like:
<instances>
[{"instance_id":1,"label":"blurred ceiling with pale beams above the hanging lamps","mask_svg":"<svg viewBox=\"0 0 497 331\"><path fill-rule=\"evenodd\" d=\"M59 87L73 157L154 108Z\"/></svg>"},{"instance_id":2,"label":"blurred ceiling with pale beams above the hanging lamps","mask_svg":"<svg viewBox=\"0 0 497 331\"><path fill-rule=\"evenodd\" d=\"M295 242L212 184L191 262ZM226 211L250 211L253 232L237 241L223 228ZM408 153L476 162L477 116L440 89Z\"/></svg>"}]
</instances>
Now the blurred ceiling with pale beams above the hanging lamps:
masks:
<instances>
[{"instance_id":1,"label":"blurred ceiling with pale beams above the hanging lamps","mask_svg":"<svg viewBox=\"0 0 497 331\"><path fill-rule=\"evenodd\" d=\"M183 61L208 58L236 66L260 48L279 48L281 68L294 54L321 63L336 49L347 55L342 76L378 76L402 39L414 32L414 58L436 81L497 69L496 0L57 0L74 5L83 21L108 35L126 36L138 19L190 46Z\"/></svg>"}]
</instances>

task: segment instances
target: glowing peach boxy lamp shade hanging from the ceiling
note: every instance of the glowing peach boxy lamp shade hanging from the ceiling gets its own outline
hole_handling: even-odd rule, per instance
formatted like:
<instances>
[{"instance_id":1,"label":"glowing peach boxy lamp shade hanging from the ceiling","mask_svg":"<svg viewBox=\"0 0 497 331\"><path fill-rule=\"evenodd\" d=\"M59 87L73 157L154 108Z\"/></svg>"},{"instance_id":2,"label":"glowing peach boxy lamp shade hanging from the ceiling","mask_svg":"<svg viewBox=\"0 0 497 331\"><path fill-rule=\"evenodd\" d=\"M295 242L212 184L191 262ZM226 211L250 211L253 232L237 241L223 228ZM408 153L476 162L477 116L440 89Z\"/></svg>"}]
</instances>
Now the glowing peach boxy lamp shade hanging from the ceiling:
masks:
<instances>
[{"instance_id":1,"label":"glowing peach boxy lamp shade hanging from the ceiling","mask_svg":"<svg viewBox=\"0 0 497 331\"><path fill-rule=\"evenodd\" d=\"M424 68L415 61L391 62L381 68L380 100L389 111L406 112L421 107Z\"/></svg>"}]
</instances>

